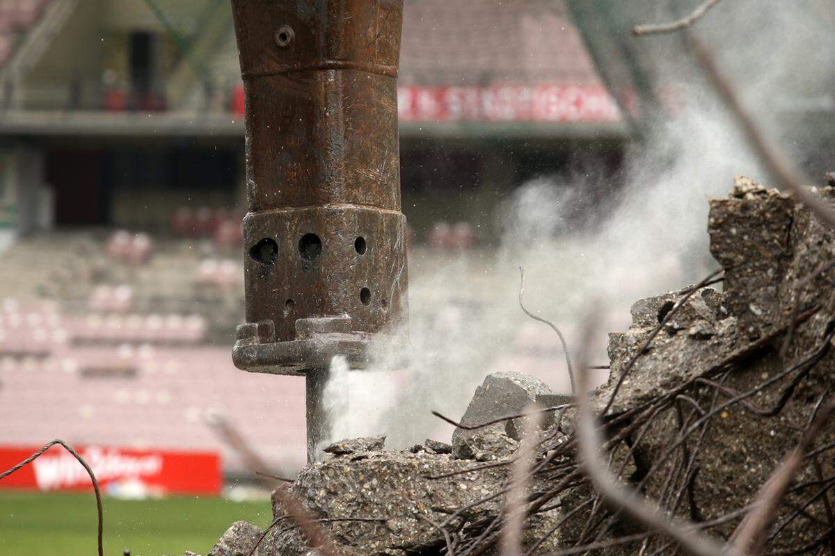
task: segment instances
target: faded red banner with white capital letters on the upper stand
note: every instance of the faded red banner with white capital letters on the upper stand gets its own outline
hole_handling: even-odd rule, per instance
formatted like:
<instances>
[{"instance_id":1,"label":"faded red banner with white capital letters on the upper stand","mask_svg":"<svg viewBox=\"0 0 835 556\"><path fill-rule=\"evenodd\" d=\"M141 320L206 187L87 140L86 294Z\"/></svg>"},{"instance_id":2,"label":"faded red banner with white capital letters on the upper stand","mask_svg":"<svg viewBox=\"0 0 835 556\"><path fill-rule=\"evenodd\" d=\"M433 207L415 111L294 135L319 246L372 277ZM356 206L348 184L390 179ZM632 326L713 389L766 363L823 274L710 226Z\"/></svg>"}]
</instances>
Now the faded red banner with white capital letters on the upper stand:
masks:
<instances>
[{"instance_id":1,"label":"faded red banner with white capital letters on the upper stand","mask_svg":"<svg viewBox=\"0 0 835 556\"><path fill-rule=\"evenodd\" d=\"M232 112L244 112L243 87ZM397 88L402 122L612 123L621 119L615 99L599 85L491 85Z\"/></svg>"}]
</instances>

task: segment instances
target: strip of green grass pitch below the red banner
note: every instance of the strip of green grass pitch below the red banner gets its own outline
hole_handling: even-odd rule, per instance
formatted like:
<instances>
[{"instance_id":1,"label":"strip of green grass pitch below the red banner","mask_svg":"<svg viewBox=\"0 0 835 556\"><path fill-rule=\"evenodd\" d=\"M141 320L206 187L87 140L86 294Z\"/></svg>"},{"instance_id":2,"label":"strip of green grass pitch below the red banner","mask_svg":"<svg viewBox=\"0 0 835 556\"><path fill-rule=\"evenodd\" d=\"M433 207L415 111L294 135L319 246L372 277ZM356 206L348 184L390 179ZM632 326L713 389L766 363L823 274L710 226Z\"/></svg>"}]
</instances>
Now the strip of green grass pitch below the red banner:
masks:
<instances>
[{"instance_id":1,"label":"strip of green grass pitch below the red banner","mask_svg":"<svg viewBox=\"0 0 835 556\"><path fill-rule=\"evenodd\" d=\"M270 502L222 498L118 500L104 498L104 553L121 556L182 556L208 553L238 519L266 527ZM94 556L96 508L93 494L0 492L0 555Z\"/></svg>"}]
</instances>

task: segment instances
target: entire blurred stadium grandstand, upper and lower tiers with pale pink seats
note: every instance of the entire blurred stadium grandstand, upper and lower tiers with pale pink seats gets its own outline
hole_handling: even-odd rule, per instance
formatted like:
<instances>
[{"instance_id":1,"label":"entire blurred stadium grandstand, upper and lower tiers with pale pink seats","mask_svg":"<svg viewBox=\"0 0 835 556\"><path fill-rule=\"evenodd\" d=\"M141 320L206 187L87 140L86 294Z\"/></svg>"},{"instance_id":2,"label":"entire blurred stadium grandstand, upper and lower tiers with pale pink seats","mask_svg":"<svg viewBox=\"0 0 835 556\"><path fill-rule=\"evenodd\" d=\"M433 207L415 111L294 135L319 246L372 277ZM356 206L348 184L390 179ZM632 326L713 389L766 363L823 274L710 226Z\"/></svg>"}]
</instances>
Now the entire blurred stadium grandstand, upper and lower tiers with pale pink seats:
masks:
<instances>
[{"instance_id":1,"label":"entire blurred stadium grandstand, upper and lower tiers with pale pink seats","mask_svg":"<svg viewBox=\"0 0 835 556\"><path fill-rule=\"evenodd\" d=\"M215 451L240 474L220 416L303 463L303 383L230 361L242 99L227 0L0 0L0 413L31 414L0 448ZM490 243L476 223L529 178L614 175L627 139L554 0L407 0L398 111L412 244L441 251Z\"/></svg>"}]
</instances>

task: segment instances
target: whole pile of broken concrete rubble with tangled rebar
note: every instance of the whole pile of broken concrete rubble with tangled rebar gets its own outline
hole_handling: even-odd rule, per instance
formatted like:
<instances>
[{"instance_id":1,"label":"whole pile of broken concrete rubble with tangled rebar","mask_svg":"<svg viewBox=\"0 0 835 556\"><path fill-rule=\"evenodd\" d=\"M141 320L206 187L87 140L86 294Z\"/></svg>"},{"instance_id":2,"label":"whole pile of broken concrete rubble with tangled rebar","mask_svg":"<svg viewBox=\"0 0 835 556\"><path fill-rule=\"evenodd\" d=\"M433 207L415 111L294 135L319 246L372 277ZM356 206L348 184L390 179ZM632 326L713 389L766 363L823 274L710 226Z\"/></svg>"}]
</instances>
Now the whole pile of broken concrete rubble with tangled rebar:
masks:
<instances>
[{"instance_id":1,"label":"whole pile of broken concrete rubble with tangled rebar","mask_svg":"<svg viewBox=\"0 0 835 556\"><path fill-rule=\"evenodd\" d=\"M833 188L815 191L830 203L835 199ZM685 290L636 302L630 328L610 334L610 380L593 400L601 420L614 423L607 438L624 440L609 447L610 468L670 515L716 521L709 532L727 538L741 513L727 516L751 503L835 390L835 362L828 349L835 330L835 244L832 231L790 195L746 178L736 178L729 198L711 201L708 231L711 253L725 269L722 291L700 288L683 303ZM650 348L638 353L660 325ZM532 402L554 407L570 398L560 398L534 378L497 373L478 388L462 422L485 423L519 413ZM549 416L540 461L559 452L563 455L549 465L574 465L582 473L575 462L574 409ZM704 426L675 446L682 428L702 416ZM498 463L514 458L520 428L519 419L477 430L459 428L451 445L427 441L404 451L386 450L379 437L345 441L303 469L291 493L314 518L377 519L323 521L321 527L340 553L444 553L447 540L438 526L450 519L448 530L457 523L458 531L470 531L471 539L486 532L493 546L483 553L498 553L497 532L488 529L502 508L510 468ZM795 478L800 486L784 500L769 553L817 549L832 535L827 495L814 494L833 483L835 458L826 451L833 440L835 425L814 444L824 451ZM468 468L473 471L450 474ZM544 467L531 480L534 502L554 482L548 470ZM597 494L580 479L538 508L547 511L529 517L524 532L528 548L549 533L533 553L642 531L605 503L588 503ZM274 506L276 517L284 514L280 504ZM461 508L467 509L455 517ZM256 542L253 529L235 523L211 554L245 553L242 547ZM654 536L647 553L659 548L672 553L675 545L664 548L664 543L665 538ZM637 553L640 548L639 540L606 548L606 553ZM311 548L298 528L282 525L256 553L301 556Z\"/></svg>"}]
</instances>

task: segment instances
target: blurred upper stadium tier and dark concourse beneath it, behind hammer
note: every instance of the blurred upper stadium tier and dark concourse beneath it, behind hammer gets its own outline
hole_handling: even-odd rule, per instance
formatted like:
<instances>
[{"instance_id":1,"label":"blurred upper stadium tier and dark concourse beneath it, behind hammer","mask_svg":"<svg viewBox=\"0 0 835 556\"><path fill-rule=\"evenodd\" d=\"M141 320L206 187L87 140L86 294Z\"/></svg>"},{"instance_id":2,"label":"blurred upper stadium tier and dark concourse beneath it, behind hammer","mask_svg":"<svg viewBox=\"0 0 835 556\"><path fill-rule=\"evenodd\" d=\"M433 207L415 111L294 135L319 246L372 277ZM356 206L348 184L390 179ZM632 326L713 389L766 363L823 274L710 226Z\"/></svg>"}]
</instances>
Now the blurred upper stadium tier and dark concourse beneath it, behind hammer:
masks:
<instances>
[{"instance_id":1,"label":"blurred upper stadium tier and dark concourse beneath it, behind hammer","mask_svg":"<svg viewBox=\"0 0 835 556\"><path fill-rule=\"evenodd\" d=\"M483 219L534 174L617 167L618 109L561 3L417 0L404 20L403 204L418 241L435 222ZM228 2L3 0L0 21L7 227L168 233L180 208L242 207Z\"/></svg>"}]
</instances>

